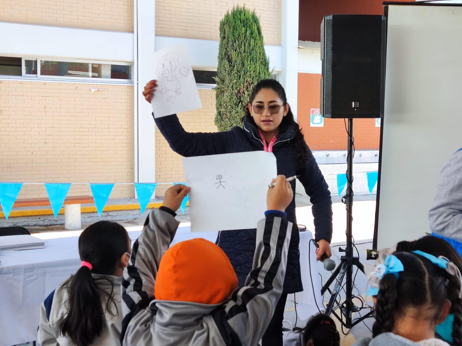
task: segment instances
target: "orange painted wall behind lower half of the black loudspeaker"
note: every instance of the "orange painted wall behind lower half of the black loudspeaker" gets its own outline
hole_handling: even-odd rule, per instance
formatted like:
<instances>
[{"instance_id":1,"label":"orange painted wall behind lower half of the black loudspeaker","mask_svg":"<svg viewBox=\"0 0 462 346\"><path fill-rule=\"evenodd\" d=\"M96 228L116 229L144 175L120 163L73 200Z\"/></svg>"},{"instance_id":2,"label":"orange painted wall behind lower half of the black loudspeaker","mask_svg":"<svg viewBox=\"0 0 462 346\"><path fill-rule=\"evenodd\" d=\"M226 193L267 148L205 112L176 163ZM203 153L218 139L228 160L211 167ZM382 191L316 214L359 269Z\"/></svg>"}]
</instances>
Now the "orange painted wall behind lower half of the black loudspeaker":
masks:
<instances>
[{"instance_id":1,"label":"orange painted wall behind lower half of the black loudspeaker","mask_svg":"<svg viewBox=\"0 0 462 346\"><path fill-rule=\"evenodd\" d=\"M345 150L343 119L324 119L324 127L310 127L310 108L320 107L320 79L320 74L298 73L298 124L311 150ZM355 148L379 149L380 127L375 119L354 119L353 123Z\"/></svg>"}]
</instances>

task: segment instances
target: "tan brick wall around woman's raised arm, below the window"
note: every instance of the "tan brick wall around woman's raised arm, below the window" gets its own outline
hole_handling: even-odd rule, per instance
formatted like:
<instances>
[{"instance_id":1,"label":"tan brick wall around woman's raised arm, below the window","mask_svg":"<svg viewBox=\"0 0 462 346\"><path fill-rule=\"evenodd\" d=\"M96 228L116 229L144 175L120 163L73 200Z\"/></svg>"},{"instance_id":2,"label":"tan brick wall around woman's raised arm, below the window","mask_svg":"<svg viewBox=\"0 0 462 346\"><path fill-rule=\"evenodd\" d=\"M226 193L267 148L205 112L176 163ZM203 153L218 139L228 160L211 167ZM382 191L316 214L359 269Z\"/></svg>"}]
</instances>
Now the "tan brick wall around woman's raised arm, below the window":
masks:
<instances>
[{"instance_id":1,"label":"tan brick wall around woman's raised arm, below the window","mask_svg":"<svg viewBox=\"0 0 462 346\"><path fill-rule=\"evenodd\" d=\"M181 124L188 132L216 132L215 119L215 91L199 89L202 108L178 114ZM164 136L156 127L156 181L184 182L182 156L170 149ZM156 196L163 196L164 191L171 185L158 185Z\"/></svg>"}]
</instances>

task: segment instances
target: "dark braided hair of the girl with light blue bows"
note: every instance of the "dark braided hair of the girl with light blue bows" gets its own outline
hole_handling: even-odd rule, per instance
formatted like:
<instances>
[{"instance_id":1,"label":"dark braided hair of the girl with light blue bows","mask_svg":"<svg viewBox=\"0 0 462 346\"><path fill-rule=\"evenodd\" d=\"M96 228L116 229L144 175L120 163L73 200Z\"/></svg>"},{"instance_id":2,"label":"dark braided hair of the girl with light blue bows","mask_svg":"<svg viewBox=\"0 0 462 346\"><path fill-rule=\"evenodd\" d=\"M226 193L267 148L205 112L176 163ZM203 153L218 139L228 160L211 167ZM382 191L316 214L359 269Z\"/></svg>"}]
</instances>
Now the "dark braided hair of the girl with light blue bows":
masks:
<instances>
[{"instance_id":1,"label":"dark braided hair of the girl with light blue bows","mask_svg":"<svg viewBox=\"0 0 462 346\"><path fill-rule=\"evenodd\" d=\"M394 255L402 262L404 271L399 273L397 279L395 274L389 273L380 280L375 304L376 322L372 327L373 337L391 332L397 317L410 307L430 307L434 311L433 318L436 322L441 307L448 299L454 304L453 345L462 346L459 279L413 252L395 252Z\"/></svg>"}]
</instances>

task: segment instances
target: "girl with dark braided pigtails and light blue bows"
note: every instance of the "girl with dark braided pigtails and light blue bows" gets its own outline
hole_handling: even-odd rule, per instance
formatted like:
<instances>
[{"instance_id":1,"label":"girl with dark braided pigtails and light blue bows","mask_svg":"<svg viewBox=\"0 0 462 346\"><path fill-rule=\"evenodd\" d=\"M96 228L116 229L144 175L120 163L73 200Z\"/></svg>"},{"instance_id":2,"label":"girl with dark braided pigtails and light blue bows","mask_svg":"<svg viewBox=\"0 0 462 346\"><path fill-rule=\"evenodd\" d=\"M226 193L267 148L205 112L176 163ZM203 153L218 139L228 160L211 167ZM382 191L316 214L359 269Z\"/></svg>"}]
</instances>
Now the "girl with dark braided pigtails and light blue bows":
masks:
<instances>
[{"instance_id":1,"label":"girl with dark braided pigtails and light blue bows","mask_svg":"<svg viewBox=\"0 0 462 346\"><path fill-rule=\"evenodd\" d=\"M382 253L370 274L374 298L373 338L354 346L448 346L435 329L452 311L452 345L462 346L459 268L423 251Z\"/></svg>"}]
</instances>

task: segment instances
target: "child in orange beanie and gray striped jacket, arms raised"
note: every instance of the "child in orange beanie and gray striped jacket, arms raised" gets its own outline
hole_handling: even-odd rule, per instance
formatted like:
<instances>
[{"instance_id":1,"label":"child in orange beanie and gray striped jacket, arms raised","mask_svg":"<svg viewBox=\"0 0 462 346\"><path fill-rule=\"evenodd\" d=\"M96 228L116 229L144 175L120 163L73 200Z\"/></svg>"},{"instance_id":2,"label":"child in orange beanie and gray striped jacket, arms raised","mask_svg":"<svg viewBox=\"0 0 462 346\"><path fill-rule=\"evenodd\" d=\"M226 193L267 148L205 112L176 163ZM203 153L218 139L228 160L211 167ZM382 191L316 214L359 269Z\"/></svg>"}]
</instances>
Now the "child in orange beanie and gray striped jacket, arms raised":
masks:
<instances>
[{"instance_id":1,"label":"child in orange beanie and gray striped jacket, arms raised","mask_svg":"<svg viewBox=\"0 0 462 346\"><path fill-rule=\"evenodd\" d=\"M122 281L122 345L257 345L282 293L291 185L280 175L268 190L253 268L241 288L225 253L212 242L192 239L169 249L179 224L173 210L188 191L171 187L134 243Z\"/></svg>"}]
</instances>

